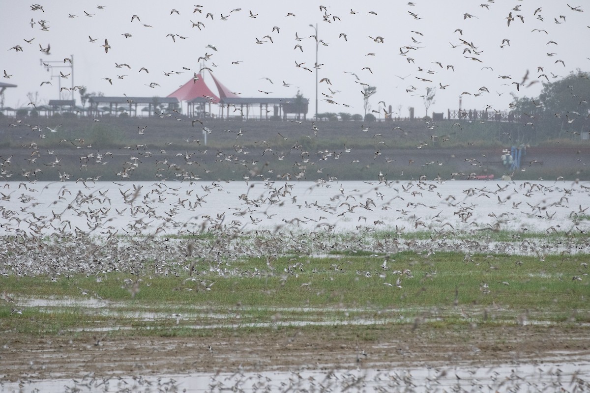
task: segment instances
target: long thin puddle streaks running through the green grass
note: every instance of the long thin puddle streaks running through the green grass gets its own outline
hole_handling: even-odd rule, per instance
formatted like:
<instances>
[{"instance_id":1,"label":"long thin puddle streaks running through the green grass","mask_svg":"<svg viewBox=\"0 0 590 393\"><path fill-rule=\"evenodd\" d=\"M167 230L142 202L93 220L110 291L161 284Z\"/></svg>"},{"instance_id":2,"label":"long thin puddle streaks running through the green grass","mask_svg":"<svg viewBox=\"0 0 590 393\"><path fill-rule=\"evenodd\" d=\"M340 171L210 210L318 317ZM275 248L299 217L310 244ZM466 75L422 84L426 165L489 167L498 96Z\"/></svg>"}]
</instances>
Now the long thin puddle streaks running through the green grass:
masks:
<instances>
[{"instance_id":1,"label":"long thin puddle streaks running through the green grass","mask_svg":"<svg viewBox=\"0 0 590 393\"><path fill-rule=\"evenodd\" d=\"M468 315L462 308L340 308L340 307L246 307L232 308L229 306L198 306L198 305L170 305L168 311L152 311L150 305L112 302L105 299L76 299L76 298L21 298L19 304L27 308L35 307L40 312L54 313L60 309L75 308L77 312L92 316L107 316L126 321L117 325L93 326L89 328L75 328L72 331L84 332L109 332L129 330L131 321L156 322L171 321L166 328L189 328L189 329L240 329L240 328L279 328L279 327L304 327L304 326L339 326L339 325L385 325L385 324L412 324L417 315L420 315L421 323L432 323L444 321L445 318L454 318L470 323L481 322L481 315L484 308L473 308L468 310ZM270 317L264 318L261 322L252 321L254 316L260 312L267 312L268 315L277 315L276 321L268 321ZM552 326L562 324L561 322L550 321L544 318L542 312L529 313L527 318L517 312L510 312L506 309L489 311L490 321L503 323L505 325L535 325ZM295 314L295 315L293 315ZM318 319L324 314L323 319ZM366 315L376 315L375 318L366 318ZM260 317L256 318L260 321ZM240 322L240 321L244 322ZM227 321L227 322L224 322ZM199 322L199 323L192 323ZM590 326L590 323L572 322L575 326ZM144 329L150 329L146 326Z\"/></svg>"}]
</instances>

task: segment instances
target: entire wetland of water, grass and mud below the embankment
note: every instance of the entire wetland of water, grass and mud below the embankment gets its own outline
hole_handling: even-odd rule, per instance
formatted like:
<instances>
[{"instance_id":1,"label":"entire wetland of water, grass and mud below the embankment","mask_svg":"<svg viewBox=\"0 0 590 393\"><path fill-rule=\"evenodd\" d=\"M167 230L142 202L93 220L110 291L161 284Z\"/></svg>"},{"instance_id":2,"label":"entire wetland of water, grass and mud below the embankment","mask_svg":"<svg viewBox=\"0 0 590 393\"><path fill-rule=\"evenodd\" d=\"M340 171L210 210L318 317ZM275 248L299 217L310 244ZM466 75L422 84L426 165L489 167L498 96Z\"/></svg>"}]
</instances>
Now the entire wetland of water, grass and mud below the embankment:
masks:
<instances>
[{"instance_id":1,"label":"entire wetland of water, grass and mud below the embankment","mask_svg":"<svg viewBox=\"0 0 590 393\"><path fill-rule=\"evenodd\" d=\"M31 186L5 204L0 381L587 391L586 184Z\"/></svg>"}]
</instances>

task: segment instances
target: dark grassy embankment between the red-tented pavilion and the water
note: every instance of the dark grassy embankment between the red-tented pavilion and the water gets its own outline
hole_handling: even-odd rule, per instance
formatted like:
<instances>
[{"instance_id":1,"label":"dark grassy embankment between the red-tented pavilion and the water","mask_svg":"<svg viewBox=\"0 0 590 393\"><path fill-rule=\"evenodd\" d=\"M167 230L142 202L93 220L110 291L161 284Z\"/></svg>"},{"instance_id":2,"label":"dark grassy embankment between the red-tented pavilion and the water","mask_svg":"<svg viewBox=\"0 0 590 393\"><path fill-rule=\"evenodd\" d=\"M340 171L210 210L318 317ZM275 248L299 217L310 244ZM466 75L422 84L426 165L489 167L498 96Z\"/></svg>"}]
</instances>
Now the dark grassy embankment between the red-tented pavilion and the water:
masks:
<instances>
[{"instance_id":1,"label":"dark grassy embankment between the red-tented pavilion and the water","mask_svg":"<svg viewBox=\"0 0 590 393\"><path fill-rule=\"evenodd\" d=\"M499 152L515 144L516 137L512 139L512 134L518 134L516 124L465 123L458 127L449 121L437 123L435 127L422 121L371 123L365 124L366 132L356 122L319 122L316 136L311 121L298 124L212 120L205 121L203 126L196 123L191 127L186 119L173 121L169 118L104 118L96 123L88 119L40 120L50 127L60 124L62 127L57 133L47 129L32 131L25 126L10 127L6 132L13 137L5 138L0 145L2 151L19 154L20 150L23 155L12 161L12 171L18 173L21 166L30 170L40 167L43 170L38 174L40 180L55 180L59 173L70 174L71 180L98 176L101 180L181 180L183 177L241 180L258 174L276 179L286 173L291 176L303 173L300 178L306 180L328 177L376 180L380 171L388 173L388 180L421 176L429 180L439 176L441 179L465 179L469 173L501 174ZM137 127L146 124L144 134L138 134ZM204 146L202 127L211 130L207 146ZM40 138L41 133L43 138ZM41 152L35 163L26 160L32 152L31 143ZM301 147L293 149L293 146ZM345 146L351 148L350 153L346 153ZM543 142L543 146L588 147L588 142L555 140ZM49 155L47 151L56 153ZM90 158L87 167L80 167L81 156L99 152L110 152L114 157L104 158L103 161L109 161L107 165L94 163ZM302 155L302 152L307 153ZM322 152L332 155L322 160ZM343 153L339 160L335 159L340 152ZM189 160L185 160L185 153L192 154ZM61 158L60 164L48 165L55 157ZM466 158L476 158L482 164L472 166L473 161L466 163ZM174 166L158 164L163 160ZM258 162L254 164L253 160ZM118 174L131 166L134 169L129 171L130 177ZM582 163L579 166L571 163L525 166L523 169L516 174L516 179L588 177ZM18 176L13 176L13 180L15 177Z\"/></svg>"}]
</instances>

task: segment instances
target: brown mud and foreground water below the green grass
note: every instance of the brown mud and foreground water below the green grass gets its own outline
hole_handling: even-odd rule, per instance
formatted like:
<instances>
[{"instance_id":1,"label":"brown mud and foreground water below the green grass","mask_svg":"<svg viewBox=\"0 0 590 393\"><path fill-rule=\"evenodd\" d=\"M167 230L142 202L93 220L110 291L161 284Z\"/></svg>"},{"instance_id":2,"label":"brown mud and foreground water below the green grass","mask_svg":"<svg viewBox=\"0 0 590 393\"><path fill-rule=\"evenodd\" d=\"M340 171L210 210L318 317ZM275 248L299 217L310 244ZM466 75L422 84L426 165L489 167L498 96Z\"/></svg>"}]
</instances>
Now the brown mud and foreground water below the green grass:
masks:
<instances>
[{"instance_id":1,"label":"brown mud and foreground water below the green grass","mask_svg":"<svg viewBox=\"0 0 590 393\"><path fill-rule=\"evenodd\" d=\"M5 391L588 391L588 328L384 325L4 337ZM443 390L444 389L444 390Z\"/></svg>"}]
</instances>

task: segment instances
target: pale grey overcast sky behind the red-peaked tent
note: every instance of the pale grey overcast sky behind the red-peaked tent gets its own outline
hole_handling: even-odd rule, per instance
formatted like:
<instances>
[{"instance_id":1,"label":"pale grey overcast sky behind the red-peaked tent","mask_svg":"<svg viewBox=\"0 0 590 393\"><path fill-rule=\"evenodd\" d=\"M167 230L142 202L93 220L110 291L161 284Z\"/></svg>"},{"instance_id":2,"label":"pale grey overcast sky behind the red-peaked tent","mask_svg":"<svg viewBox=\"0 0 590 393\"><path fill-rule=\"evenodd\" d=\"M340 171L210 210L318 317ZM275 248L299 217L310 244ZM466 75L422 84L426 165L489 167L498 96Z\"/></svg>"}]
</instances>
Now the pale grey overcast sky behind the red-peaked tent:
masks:
<instances>
[{"instance_id":1,"label":"pale grey overcast sky behind the red-peaked tent","mask_svg":"<svg viewBox=\"0 0 590 393\"><path fill-rule=\"evenodd\" d=\"M483 110L491 105L507 110L510 93L539 94L540 82L547 81L539 75L555 81L553 75L559 78L576 68L590 69L590 7L580 12L565 1L203 1L199 3L202 12L194 12L194 2L186 1L51 1L40 4L43 11L32 11L31 4L2 2L0 69L11 77L0 81L18 85L5 91L5 106L26 106L29 92L38 92L40 104L59 98L59 82L70 87L72 77L74 85L85 86L89 92L166 97L191 80L200 68L198 58L209 54L205 65L231 91L242 97L293 97L300 90L310 99L309 114L313 114L316 41L309 38L314 34L310 24L317 24L318 38L325 43L319 45L319 79L328 78L331 83L319 84L320 113L362 114L359 82L377 88L369 100L374 110L381 110L379 101L383 101L394 111L401 105L402 116L408 115L410 106L417 115L424 115L419 96L427 87L437 87L429 112L458 108L460 95L463 108ZM326 9L320 11L320 5ZM510 13L514 20L508 26ZM132 21L133 15L140 20ZM41 20L48 31L41 29ZM204 26L193 27L197 22ZM168 34L175 35L175 41ZM89 36L96 42L90 42ZM105 38L111 47L108 53L101 46ZM25 39L33 41L29 44ZM257 44L257 39L263 43ZM509 44L503 44L504 39ZM22 51L11 49L16 45ZM40 45L51 45L50 54L41 52ZM51 75L68 74L69 68L47 71L41 65L41 61L65 65L64 58L71 55L74 75L67 79ZM116 63L131 68L116 68ZM140 72L142 67L149 74ZM182 73L165 75L171 71ZM527 72L525 83L536 83L517 91L512 82L522 82ZM113 84L104 78L111 78ZM45 81L52 84L41 86ZM217 92L208 75L205 81ZM149 87L152 82L159 87ZM79 97L76 92L78 104Z\"/></svg>"}]
</instances>

